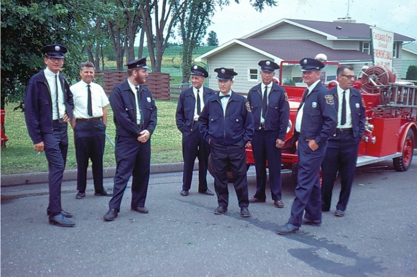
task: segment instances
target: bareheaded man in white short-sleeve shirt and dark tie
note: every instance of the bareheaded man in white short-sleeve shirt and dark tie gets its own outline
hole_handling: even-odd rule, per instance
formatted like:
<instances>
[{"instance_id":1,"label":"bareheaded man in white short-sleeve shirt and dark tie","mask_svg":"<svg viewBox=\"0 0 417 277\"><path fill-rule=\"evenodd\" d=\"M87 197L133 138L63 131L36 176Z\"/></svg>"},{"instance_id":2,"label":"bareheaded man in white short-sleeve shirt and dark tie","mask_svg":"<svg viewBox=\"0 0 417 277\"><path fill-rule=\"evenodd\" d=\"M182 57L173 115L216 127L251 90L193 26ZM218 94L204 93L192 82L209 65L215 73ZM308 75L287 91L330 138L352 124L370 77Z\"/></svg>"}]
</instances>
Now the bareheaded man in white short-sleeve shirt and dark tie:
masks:
<instances>
[{"instance_id":1,"label":"bareheaded man in white short-sleeve shirt and dark tie","mask_svg":"<svg viewBox=\"0 0 417 277\"><path fill-rule=\"evenodd\" d=\"M103 188L103 153L109 99L103 88L93 83L92 62L82 62L79 74L81 81L70 87L74 99L74 144L77 159L78 193L75 198L86 196L89 159L92 161L94 195L112 196L111 191Z\"/></svg>"}]
</instances>

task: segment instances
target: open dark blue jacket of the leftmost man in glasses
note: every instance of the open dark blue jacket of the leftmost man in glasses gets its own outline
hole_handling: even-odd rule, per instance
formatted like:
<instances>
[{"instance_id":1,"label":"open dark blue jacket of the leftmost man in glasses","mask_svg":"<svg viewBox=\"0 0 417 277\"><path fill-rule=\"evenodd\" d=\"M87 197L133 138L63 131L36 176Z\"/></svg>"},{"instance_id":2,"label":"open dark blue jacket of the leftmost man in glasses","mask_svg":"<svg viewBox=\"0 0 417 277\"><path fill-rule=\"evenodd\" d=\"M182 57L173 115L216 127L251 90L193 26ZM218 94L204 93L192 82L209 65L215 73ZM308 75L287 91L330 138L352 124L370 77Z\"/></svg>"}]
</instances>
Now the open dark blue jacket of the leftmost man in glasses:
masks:
<instances>
[{"instance_id":1,"label":"open dark blue jacket of the leftmost man in glasses","mask_svg":"<svg viewBox=\"0 0 417 277\"><path fill-rule=\"evenodd\" d=\"M59 82L64 93L64 102L71 122L74 117L72 109L74 102L70 87L64 76L59 73ZM52 133L52 100L48 81L44 71L40 71L30 78L25 91L25 120L29 136L33 144L42 142L41 133Z\"/></svg>"}]
</instances>

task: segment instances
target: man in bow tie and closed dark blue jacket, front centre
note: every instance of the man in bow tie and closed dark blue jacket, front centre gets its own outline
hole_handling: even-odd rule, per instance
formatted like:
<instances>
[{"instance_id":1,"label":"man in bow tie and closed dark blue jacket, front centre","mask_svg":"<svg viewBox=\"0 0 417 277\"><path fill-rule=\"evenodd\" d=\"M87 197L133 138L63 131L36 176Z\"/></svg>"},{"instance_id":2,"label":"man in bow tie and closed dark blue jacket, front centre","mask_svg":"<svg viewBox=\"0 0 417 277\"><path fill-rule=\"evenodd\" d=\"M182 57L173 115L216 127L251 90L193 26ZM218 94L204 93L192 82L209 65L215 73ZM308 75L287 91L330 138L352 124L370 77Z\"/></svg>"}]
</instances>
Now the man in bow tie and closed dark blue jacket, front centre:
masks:
<instances>
[{"instance_id":1,"label":"man in bow tie and closed dark blue jacket, front centre","mask_svg":"<svg viewBox=\"0 0 417 277\"><path fill-rule=\"evenodd\" d=\"M237 73L224 67L214 71L220 92L209 98L198 119L200 132L210 145L213 159L214 188L219 204L214 213L220 215L227 211L227 169L230 167L240 215L248 217L245 146L252 141L254 118L246 98L231 89L232 78Z\"/></svg>"}]
</instances>

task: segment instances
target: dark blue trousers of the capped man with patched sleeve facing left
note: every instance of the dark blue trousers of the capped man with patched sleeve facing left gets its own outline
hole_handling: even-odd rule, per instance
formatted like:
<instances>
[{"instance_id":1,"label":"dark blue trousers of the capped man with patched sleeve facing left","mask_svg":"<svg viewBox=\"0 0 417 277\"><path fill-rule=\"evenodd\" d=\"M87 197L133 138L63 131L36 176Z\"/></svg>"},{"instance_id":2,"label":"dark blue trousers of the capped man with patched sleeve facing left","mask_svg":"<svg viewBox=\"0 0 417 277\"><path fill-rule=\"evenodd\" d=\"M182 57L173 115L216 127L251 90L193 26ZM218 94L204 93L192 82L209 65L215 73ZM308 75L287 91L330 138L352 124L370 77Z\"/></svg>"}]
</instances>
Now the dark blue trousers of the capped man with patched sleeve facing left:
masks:
<instances>
[{"instance_id":1,"label":"dark blue trousers of the capped man with patched sleeve facing left","mask_svg":"<svg viewBox=\"0 0 417 277\"><path fill-rule=\"evenodd\" d=\"M308 220L321 220L320 166L326 153L327 143L316 151L308 147L303 137L298 139L298 182L296 198L291 206L289 223L301 226L304 217Z\"/></svg>"}]
</instances>

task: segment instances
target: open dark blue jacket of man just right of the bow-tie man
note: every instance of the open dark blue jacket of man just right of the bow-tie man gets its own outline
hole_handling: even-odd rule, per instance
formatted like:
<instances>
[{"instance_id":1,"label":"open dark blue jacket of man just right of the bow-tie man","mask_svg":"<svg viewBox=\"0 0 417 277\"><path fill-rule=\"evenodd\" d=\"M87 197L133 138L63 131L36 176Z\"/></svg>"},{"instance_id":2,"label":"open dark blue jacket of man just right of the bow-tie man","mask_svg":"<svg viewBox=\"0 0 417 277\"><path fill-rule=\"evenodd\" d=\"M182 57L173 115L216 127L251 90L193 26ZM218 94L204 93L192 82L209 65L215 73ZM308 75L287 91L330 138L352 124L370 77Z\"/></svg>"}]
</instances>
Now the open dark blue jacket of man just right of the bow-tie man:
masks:
<instances>
[{"instance_id":1,"label":"open dark blue jacket of man just right of the bow-tie man","mask_svg":"<svg viewBox=\"0 0 417 277\"><path fill-rule=\"evenodd\" d=\"M261 126L262 92L261 84L249 90L247 100L251 104L255 119L255 130ZM268 96L268 108L265 114L265 131L279 131L277 139L285 141L289 119L289 104L285 89L273 83Z\"/></svg>"}]
</instances>

